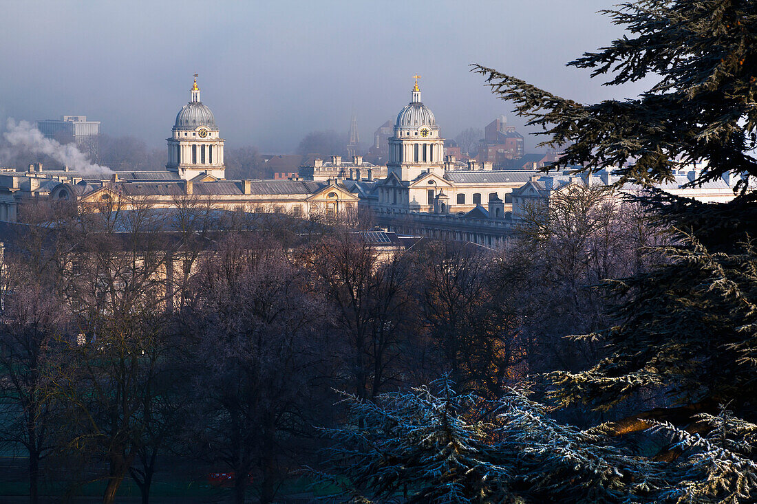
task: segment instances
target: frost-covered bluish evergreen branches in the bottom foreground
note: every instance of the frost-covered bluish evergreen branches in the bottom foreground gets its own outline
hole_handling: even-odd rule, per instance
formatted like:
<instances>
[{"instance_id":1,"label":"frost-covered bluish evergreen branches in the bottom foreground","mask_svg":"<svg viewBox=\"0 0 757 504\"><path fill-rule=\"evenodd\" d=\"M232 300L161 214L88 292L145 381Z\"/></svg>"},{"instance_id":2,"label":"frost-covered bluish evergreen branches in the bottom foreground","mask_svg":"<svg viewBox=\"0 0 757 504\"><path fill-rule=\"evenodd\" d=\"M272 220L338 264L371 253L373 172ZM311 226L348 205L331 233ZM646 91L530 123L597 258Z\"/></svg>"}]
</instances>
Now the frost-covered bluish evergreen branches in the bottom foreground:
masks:
<instances>
[{"instance_id":1,"label":"frost-covered bluish evergreen branches in the bottom foreground","mask_svg":"<svg viewBox=\"0 0 757 504\"><path fill-rule=\"evenodd\" d=\"M669 423L655 428L683 450L675 462L633 453L601 428L581 431L549 418L518 390L499 400L455 394L441 381L348 396L352 421L326 431L322 478L339 502L753 502L751 450L757 426L730 412L701 415L706 437ZM338 478L336 474L341 475Z\"/></svg>"}]
</instances>

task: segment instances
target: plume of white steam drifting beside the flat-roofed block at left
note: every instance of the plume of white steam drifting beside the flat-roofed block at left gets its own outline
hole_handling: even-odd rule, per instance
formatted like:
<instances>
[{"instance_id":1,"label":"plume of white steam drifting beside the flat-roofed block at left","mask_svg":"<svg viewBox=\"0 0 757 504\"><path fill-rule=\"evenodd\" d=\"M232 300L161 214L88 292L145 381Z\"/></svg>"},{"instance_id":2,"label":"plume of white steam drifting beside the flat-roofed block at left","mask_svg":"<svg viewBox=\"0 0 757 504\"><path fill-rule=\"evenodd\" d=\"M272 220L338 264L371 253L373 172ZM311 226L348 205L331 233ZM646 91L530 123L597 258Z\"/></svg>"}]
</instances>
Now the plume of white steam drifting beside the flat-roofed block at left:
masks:
<instances>
[{"instance_id":1,"label":"plume of white steam drifting beside the flat-roofed block at left","mask_svg":"<svg viewBox=\"0 0 757 504\"><path fill-rule=\"evenodd\" d=\"M27 121L16 123L8 118L8 131L3 136L15 148L25 148L35 154L46 154L76 172L113 173L107 166L91 163L73 143L61 145L52 138L45 138L39 129Z\"/></svg>"}]
</instances>

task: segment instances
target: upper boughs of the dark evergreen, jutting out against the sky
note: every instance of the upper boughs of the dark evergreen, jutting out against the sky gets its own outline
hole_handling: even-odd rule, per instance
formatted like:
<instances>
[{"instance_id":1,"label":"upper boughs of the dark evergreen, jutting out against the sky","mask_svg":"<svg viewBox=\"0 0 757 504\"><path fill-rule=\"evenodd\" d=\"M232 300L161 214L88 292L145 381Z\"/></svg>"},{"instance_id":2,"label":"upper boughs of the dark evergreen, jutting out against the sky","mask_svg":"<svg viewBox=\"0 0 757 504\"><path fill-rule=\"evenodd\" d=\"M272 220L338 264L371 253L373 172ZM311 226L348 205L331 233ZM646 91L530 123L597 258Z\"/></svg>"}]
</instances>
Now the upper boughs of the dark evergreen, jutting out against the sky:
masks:
<instances>
[{"instance_id":1,"label":"upper boughs of the dark evergreen, jutting out against the sky","mask_svg":"<svg viewBox=\"0 0 757 504\"><path fill-rule=\"evenodd\" d=\"M701 161L708 167L700 181L729 171L757 176L750 153L757 142L757 4L640 0L603 12L629 36L569 66L610 74L608 86L656 79L640 96L580 104L474 65L494 94L544 128L549 138L542 145L565 147L553 166L615 169L622 182L645 185Z\"/></svg>"}]
</instances>

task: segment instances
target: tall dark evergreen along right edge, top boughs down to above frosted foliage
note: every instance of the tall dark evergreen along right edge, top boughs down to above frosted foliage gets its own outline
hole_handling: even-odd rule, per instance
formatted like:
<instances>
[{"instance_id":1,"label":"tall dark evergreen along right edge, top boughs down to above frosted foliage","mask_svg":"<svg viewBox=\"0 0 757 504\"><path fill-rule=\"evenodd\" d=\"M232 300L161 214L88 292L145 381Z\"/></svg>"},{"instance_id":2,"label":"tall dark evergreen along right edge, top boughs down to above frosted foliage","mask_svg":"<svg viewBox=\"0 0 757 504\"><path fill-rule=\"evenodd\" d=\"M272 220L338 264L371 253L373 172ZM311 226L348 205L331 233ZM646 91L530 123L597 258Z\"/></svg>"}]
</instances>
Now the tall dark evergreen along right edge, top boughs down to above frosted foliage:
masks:
<instances>
[{"instance_id":1,"label":"tall dark evergreen along right edge, top boughs down to above frosted foliage","mask_svg":"<svg viewBox=\"0 0 757 504\"><path fill-rule=\"evenodd\" d=\"M650 420L706 432L696 415L724 403L755 422L757 3L640 0L605 14L628 35L569 65L609 74L608 86L655 80L635 98L578 104L497 70L475 71L544 128L545 144L565 146L554 166L614 170L620 185L649 187L701 163L692 185L737 176L740 194L729 204L654 190L641 198L673 232L671 245L655 250L667 262L606 284L617 302L609 307L616 325L599 334L606 356L584 372L553 373L553 397L605 411L621 401L658 406L618 420L615 434L643 431ZM666 452L659 458L677 456Z\"/></svg>"}]
</instances>

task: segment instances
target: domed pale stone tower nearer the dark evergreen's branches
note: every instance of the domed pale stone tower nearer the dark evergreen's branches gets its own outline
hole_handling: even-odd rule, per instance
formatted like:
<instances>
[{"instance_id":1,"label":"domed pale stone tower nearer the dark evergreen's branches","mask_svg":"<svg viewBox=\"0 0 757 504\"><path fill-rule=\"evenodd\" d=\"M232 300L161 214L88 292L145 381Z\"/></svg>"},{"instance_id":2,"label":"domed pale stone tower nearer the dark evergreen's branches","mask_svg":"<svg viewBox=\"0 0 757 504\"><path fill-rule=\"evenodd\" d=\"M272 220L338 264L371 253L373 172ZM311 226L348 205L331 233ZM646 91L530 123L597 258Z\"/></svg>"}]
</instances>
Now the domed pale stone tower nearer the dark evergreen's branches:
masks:
<instances>
[{"instance_id":1,"label":"domed pale stone tower nearer the dark evergreen's branches","mask_svg":"<svg viewBox=\"0 0 757 504\"><path fill-rule=\"evenodd\" d=\"M413 180L425 172L444 175L444 138L431 109L421 101L419 75L414 76L415 86L410 104L400 110L394 124L394 136L389 138L387 168L400 180Z\"/></svg>"}]
</instances>

